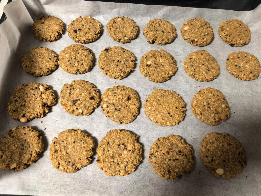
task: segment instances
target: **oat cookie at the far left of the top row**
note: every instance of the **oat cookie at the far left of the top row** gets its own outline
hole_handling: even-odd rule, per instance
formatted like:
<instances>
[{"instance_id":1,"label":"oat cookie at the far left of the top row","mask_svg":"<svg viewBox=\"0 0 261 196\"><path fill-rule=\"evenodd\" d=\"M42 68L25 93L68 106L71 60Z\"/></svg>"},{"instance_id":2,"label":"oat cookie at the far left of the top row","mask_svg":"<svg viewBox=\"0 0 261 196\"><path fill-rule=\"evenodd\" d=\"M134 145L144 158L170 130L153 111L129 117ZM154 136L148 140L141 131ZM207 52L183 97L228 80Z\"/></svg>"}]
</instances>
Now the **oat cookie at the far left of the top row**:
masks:
<instances>
[{"instance_id":1,"label":"oat cookie at the far left of the top row","mask_svg":"<svg viewBox=\"0 0 261 196\"><path fill-rule=\"evenodd\" d=\"M63 21L55 16L41 15L33 21L33 34L39 40L52 42L64 31Z\"/></svg>"}]
</instances>

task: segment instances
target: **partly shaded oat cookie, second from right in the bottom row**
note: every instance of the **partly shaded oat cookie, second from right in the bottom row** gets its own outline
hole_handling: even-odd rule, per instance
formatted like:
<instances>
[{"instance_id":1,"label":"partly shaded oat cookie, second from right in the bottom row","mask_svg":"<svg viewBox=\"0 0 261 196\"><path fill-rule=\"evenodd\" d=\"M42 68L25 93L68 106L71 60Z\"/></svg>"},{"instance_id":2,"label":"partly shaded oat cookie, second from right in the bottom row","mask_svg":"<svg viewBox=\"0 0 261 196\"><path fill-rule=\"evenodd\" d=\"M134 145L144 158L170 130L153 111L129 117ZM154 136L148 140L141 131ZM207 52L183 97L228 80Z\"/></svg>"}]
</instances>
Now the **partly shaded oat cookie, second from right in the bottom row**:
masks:
<instances>
[{"instance_id":1,"label":"partly shaded oat cookie, second from right in the bottom row","mask_svg":"<svg viewBox=\"0 0 261 196\"><path fill-rule=\"evenodd\" d=\"M178 135L158 138L150 148L149 163L159 177L179 180L195 166L192 148Z\"/></svg>"}]
</instances>

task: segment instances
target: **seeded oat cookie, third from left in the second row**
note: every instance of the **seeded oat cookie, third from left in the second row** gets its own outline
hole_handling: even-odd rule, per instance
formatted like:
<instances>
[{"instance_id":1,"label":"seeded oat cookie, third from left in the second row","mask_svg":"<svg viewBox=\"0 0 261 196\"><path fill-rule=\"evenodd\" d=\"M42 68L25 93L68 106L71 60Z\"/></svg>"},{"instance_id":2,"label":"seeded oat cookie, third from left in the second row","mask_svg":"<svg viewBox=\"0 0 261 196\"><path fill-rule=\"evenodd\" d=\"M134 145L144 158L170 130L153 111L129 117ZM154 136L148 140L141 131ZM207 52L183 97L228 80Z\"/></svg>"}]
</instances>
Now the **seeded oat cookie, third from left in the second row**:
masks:
<instances>
[{"instance_id":1,"label":"seeded oat cookie, third from left in the second row","mask_svg":"<svg viewBox=\"0 0 261 196\"><path fill-rule=\"evenodd\" d=\"M102 72L113 79L123 79L134 70L135 56L120 46L105 48L98 59Z\"/></svg>"}]
</instances>

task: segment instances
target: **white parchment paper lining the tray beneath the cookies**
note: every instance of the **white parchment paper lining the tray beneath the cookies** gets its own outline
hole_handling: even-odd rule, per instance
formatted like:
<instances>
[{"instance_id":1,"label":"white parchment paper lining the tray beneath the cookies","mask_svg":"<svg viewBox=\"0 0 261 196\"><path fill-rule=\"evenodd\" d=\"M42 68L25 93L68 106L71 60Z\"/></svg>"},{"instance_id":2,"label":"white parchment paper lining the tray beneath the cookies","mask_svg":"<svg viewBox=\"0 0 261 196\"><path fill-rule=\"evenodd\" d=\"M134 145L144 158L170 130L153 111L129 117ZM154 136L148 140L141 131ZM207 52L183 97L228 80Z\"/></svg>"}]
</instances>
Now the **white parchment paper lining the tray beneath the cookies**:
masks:
<instances>
[{"instance_id":1,"label":"white parchment paper lining the tray beneath the cookies","mask_svg":"<svg viewBox=\"0 0 261 196\"><path fill-rule=\"evenodd\" d=\"M261 78L253 81L243 81L235 78L226 69L227 56L232 52L246 51L261 60L261 6L253 11L229 11L217 9L184 8L159 5L141 5L125 3L104 3L87 1L29 1L24 0L29 14L35 19L41 14L53 15L60 18L64 24L69 25L79 16L90 15L102 23L101 37L89 44L95 57L92 70L86 74L73 75L64 72L60 67L52 74L45 77L34 77L24 72L21 68L21 57L34 47L48 47L57 54L64 47L74 44L67 31L55 42L46 43L33 36L31 30L32 20L26 10L22 9L21 0L17 0L5 7L7 20L14 18L19 21L7 32L11 38L3 35L3 24L0 25L1 35L1 95L0 95L0 137L11 128L18 125L32 125L41 132L44 140L44 152L39 160L28 168L11 172L0 169L0 194L31 194L31 195L261 195ZM12 5L13 4L13 5ZM20 11L19 11L20 10ZM22 11L21 11L22 10ZM28 15L27 15L28 16ZM115 42L106 32L106 23L115 16L132 18L139 26L138 37L131 43L121 44ZM184 21L190 18L202 17L209 21L214 31L213 41L205 47L194 47L183 40L180 28ZM153 18L161 18L175 25L177 38L163 46L149 44L143 36L142 30L146 23ZM243 47L230 47L218 35L218 26L224 20L240 19L251 29L251 41ZM7 21L5 21L7 23ZM14 24L14 23L13 23ZM8 25L7 25L8 26ZM15 30L19 31L15 31ZM67 27L66 27L67 30ZM3 41L5 39L5 41ZM12 49L2 49L7 43ZM108 46L122 46L135 55L135 70L122 80L111 79L104 75L98 67L100 52ZM171 53L178 66L175 76L164 83L153 83L143 77L139 71L139 62L143 54L152 49L164 49ZM211 82L199 82L187 76L183 69L186 56L195 50L207 50L215 57L220 65L220 75ZM154 91L154 88L169 89L179 93L186 102L185 119L173 127L155 125L144 113L141 106L140 114L133 122L117 124L106 118L100 108L90 116L73 116L66 113L58 103L44 117L34 119L22 124L11 119L6 105L10 101L13 90L23 83L40 82L50 85L58 97L65 83L75 79L87 80L100 90L104 91L115 85L126 85L135 89L140 101ZM226 97L231 107L231 117L218 126L209 126L200 122L191 111L191 101L200 89L211 87L220 90ZM74 174L66 174L56 170L49 159L49 146L58 133L66 129L79 128L91 135L96 147L98 142L111 129L127 129L139 135L139 142L143 146L143 160L135 172L124 177L108 177L98 169L96 163L97 153L92 156L90 165L80 169ZM244 146L247 154L247 166L240 175L234 179L216 178L209 172L200 159L199 147L204 135L210 132L227 132L234 136ZM167 181L158 177L148 162L149 149L158 137L169 134L180 135L191 145L195 152L196 165L194 171L187 177L178 181Z\"/></svg>"}]
</instances>

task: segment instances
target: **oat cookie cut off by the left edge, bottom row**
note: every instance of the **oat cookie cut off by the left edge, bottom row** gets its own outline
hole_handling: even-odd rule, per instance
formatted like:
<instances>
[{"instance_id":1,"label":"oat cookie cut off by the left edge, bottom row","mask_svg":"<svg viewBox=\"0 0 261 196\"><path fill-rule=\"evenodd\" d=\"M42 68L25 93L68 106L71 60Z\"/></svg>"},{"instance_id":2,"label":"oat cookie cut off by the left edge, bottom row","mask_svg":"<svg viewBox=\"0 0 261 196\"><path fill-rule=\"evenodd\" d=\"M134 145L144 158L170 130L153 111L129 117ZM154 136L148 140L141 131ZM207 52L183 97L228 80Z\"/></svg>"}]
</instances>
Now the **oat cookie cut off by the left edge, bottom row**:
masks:
<instances>
[{"instance_id":1,"label":"oat cookie cut off by the left edge, bottom row","mask_svg":"<svg viewBox=\"0 0 261 196\"><path fill-rule=\"evenodd\" d=\"M44 149L40 134L31 126L17 126L7 131L0 139L0 168L17 171L34 163Z\"/></svg>"}]
</instances>

